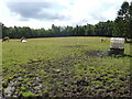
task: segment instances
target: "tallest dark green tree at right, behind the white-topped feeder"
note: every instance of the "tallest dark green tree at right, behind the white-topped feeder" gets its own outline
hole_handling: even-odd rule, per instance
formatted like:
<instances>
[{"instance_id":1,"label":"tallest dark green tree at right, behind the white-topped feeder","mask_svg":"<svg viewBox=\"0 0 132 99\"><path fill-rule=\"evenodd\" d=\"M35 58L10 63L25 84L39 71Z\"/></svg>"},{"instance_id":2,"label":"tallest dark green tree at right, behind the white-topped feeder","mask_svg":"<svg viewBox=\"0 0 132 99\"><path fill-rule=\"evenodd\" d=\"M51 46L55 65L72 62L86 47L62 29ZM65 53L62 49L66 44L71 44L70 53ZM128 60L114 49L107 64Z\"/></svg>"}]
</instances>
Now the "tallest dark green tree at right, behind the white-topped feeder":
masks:
<instances>
[{"instance_id":1,"label":"tallest dark green tree at right, behind the white-topped feeder","mask_svg":"<svg viewBox=\"0 0 132 99\"><path fill-rule=\"evenodd\" d=\"M114 36L132 37L132 2L130 4L127 1L122 3L114 23Z\"/></svg>"}]
</instances>

